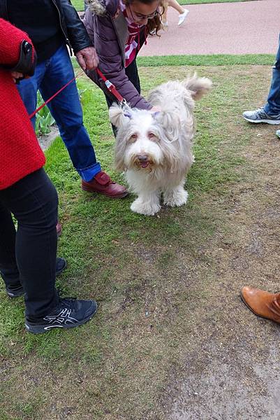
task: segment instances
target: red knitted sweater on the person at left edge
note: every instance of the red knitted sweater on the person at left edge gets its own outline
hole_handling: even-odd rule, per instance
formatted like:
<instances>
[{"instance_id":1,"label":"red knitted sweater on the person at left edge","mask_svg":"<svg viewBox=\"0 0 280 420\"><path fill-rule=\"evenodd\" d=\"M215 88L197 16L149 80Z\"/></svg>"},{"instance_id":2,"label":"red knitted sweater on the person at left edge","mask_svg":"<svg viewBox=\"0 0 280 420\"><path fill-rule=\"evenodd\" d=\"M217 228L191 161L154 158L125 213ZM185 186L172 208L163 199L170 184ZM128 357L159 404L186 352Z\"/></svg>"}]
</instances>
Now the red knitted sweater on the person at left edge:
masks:
<instances>
[{"instance_id":1,"label":"red knitted sweater on the person at left edge","mask_svg":"<svg viewBox=\"0 0 280 420\"><path fill-rule=\"evenodd\" d=\"M23 39L31 42L27 34L0 19L0 190L45 164L10 71L1 69L1 64L17 64Z\"/></svg>"}]
</instances>

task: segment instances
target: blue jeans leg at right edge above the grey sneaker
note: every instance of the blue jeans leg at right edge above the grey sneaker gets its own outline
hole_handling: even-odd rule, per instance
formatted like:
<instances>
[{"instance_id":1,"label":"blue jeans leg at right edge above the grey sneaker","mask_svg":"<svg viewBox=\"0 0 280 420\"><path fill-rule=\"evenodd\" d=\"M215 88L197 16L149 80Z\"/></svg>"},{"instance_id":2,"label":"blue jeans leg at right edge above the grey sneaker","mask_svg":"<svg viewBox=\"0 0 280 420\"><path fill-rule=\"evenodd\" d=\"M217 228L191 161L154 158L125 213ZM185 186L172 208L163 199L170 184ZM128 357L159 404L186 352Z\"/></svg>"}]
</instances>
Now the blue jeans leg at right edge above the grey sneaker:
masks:
<instances>
[{"instance_id":1,"label":"blue jeans leg at right edge above the grey sneaker","mask_svg":"<svg viewBox=\"0 0 280 420\"><path fill-rule=\"evenodd\" d=\"M272 67L270 93L268 94L264 111L269 116L280 116L280 34L276 62Z\"/></svg>"}]
</instances>

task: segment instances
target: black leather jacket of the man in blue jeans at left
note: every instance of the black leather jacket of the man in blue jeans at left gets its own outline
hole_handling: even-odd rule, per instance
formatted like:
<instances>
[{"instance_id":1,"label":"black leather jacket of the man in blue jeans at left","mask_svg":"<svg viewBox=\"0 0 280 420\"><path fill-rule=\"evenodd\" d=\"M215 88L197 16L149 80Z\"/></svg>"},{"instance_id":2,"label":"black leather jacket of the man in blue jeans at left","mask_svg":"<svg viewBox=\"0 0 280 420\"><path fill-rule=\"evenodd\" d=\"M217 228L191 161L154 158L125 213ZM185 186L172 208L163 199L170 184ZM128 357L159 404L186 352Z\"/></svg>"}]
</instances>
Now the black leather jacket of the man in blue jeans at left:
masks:
<instances>
[{"instance_id":1,"label":"black leather jacket of the man in blue jeans at left","mask_svg":"<svg viewBox=\"0 0 280 420\"><path fill-rule=\"evenodd\" d=\"M9 20L7 3L11 0L0 0L0 18ZM38 1L38 0L34 0ZM59 13L61 30L65 41L74 52L92 45L87 31L70 0L52 0Z\"/></svg>"}]
</instances>

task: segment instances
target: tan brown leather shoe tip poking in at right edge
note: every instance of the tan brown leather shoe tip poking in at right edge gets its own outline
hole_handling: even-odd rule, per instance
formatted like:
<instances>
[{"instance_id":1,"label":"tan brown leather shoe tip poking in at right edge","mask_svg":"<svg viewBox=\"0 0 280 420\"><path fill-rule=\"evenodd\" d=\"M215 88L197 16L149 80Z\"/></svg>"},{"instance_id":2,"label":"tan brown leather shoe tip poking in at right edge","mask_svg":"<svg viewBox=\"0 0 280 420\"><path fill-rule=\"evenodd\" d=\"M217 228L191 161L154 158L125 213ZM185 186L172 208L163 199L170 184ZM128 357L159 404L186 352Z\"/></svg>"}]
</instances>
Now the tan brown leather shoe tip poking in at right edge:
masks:
<instances>
[{"instance_id":1,"label":"tan brown leather shoe tip poking in at right edge","mask_svg":"<svg viewBox=\"0 0 280 420\"><path fill-rule=\"evenodd\" d=\"M240 295L255 315L280 323L280 293L268 293L265 290L245 286Z\"/></svg>"}]
</instances>

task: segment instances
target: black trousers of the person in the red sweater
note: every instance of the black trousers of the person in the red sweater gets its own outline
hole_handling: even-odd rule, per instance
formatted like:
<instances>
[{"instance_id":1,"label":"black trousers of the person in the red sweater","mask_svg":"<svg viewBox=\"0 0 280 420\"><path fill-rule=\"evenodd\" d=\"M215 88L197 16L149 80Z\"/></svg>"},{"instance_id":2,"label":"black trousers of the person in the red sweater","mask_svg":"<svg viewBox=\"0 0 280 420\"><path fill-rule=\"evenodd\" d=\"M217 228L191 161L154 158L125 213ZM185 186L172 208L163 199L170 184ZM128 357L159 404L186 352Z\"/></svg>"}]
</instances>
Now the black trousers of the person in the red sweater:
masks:
<instances>
[{"instance_id":1,"label":"black trousers of the person in the red sweater","mask_svg":"<svg viewBox=\"0 0 280 420\"><path fill-rule=\"evenodd\" d=\"M0 190L0 274L6 286L22 284L31 320L58 303L57 206L57 191L44 169Z\"/></svg>"}]
</instances>

